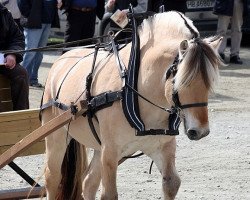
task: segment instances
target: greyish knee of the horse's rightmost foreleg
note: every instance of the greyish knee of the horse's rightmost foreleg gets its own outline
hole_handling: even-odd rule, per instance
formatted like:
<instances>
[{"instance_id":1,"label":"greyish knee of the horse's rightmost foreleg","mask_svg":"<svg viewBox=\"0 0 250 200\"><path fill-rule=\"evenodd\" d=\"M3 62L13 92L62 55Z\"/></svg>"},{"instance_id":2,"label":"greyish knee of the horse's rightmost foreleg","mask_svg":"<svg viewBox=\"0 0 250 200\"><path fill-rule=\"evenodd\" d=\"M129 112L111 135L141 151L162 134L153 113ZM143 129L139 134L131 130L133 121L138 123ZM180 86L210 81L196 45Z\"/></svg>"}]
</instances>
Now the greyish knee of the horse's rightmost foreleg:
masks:
<instances>
[{"instance_id":1,"label":"greyish knee of the horse's rightmost foreleg","mask_svg":"<svg viewBox=\"0 0 250 200\"><path fill-rule=\"evenodd\" d=\"M162 186L165 200L174 199L179 190L180 185L181 179L178 174L164 176L162 179Z\"/></svg>"}]
</instances>

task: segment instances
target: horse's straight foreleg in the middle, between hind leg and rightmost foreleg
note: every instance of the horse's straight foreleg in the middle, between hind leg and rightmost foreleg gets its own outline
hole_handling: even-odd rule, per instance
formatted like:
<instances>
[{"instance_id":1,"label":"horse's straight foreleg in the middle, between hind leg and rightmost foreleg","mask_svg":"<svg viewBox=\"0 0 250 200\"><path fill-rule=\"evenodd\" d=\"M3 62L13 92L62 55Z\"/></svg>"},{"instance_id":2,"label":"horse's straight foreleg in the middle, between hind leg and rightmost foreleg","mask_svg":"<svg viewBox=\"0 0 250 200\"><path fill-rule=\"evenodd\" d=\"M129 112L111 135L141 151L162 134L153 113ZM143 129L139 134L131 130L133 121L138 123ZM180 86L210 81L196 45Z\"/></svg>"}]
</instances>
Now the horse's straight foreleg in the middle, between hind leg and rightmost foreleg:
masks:
<instances>
[{"instance_id":1,"label":"horse's straight foreleg in the middle, between hind leg and rightmost foreleg","mask_svg":"<svg viewBox=\"0 0 250 200\"><path fill-rule=\"evenodd\" d=\"M102 194L101 200L118 199L116 173L118 166L117 152L112 144L102 146L101 154Z\"/></svg>"}]
</instances>

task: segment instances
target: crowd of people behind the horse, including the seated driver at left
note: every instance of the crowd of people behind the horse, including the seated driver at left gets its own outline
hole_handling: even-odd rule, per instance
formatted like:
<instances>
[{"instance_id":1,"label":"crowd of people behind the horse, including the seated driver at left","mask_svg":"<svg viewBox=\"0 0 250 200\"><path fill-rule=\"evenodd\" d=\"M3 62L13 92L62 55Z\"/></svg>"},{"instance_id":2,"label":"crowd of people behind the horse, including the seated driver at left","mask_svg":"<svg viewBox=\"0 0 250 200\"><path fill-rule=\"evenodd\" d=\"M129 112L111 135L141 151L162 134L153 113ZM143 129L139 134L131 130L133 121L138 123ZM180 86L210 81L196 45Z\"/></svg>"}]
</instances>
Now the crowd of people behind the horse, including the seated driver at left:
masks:
<instances>
[{"instance_id":1,"label":"crowd of people behind the horse, including the seated driver at left","mask_svg":"<svg viewBox=\"0 0 250 200\"><path fill-rule=\"evenodd\" d=\"M230 62L242 64L239 57L241 26L246 14L246 0L215 0L214 13L218 15L217 33L224 36L219 53L225 59L226 32L231 22ZM128 5L135 12L177 10L185 13L186 0L0 0L0 51L27 50L47 45L51 27L60 27L58 9L67 16L65 42L91 38L95 32L96 17L102 19L105 10L121 10L120 17L128 12ZM81 44L83 45L83 44ZM1 53L1 52L0 52ZM29 108L29 86L43 88L38 81L42 52L4 54L0 74L11 81L14 110Z\"/></svg>"}]
</instances>

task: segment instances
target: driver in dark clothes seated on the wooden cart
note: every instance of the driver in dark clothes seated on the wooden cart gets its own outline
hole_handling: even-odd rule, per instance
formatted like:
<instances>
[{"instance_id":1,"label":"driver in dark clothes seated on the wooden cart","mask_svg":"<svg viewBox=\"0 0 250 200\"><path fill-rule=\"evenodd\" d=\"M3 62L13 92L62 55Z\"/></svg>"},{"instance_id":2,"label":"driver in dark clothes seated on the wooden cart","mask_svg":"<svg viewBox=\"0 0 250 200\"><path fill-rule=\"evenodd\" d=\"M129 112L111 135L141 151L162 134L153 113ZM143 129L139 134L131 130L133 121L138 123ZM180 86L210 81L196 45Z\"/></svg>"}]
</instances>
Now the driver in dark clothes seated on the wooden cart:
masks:
<instances>
[{"instance_id":1,"label":"driver in dark clothes seated on the wooden cart","mask_svg":"<svg viewBox=\"0 0 250 200\"><path fill-rule=\"evenodd\" d=\"M0 52L24 50L24 35L11 13L0 3ZM22 53L5 53L0 74L10 79L13 110L29 109L29 84L26 70L19 64Z\"/></svg>"}]
</instances>

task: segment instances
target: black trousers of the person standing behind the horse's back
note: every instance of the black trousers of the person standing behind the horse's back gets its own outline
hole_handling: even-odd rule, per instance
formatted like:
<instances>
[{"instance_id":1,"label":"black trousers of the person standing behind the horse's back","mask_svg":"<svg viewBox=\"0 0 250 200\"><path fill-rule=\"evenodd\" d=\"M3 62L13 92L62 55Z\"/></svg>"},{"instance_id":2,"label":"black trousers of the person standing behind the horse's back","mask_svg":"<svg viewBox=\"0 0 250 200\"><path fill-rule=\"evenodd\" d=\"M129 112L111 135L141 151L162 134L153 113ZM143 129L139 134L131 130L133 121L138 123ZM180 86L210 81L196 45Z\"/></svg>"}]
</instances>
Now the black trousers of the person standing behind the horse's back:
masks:
<instances>
[{"instance_id":1,"label":"black trousers of the person standing behind the horse's back","mask_svg":"<svg viewBox=\"0 0 250 200\"><path fill-rule=\"evenodd\" d=\"M69 12L67 13L65 42L92 38L95 33L95 20L95 10L82 12L79 10L69 9ZM84 42L70 46L82 46L91 43L92 42Z\"/></svg>"}]
</instances>

